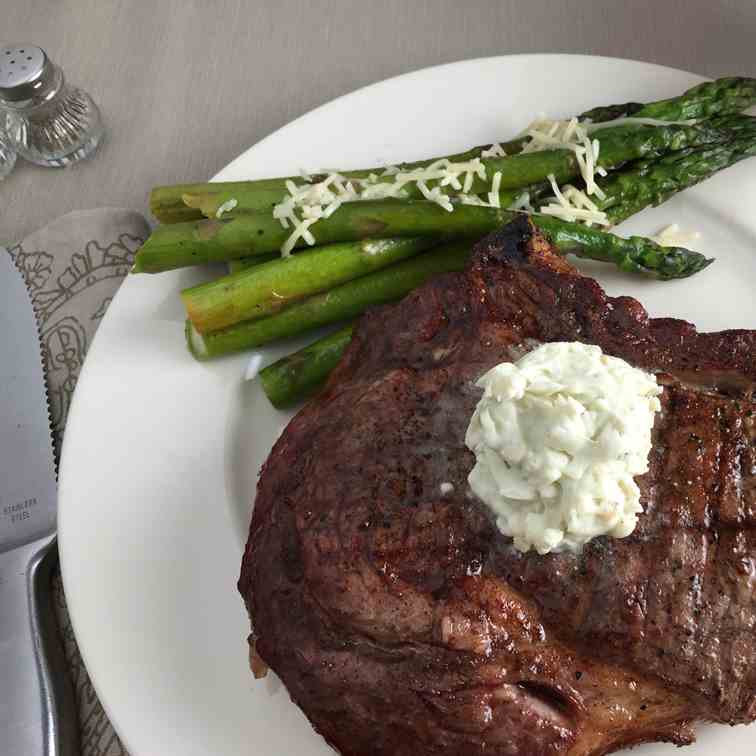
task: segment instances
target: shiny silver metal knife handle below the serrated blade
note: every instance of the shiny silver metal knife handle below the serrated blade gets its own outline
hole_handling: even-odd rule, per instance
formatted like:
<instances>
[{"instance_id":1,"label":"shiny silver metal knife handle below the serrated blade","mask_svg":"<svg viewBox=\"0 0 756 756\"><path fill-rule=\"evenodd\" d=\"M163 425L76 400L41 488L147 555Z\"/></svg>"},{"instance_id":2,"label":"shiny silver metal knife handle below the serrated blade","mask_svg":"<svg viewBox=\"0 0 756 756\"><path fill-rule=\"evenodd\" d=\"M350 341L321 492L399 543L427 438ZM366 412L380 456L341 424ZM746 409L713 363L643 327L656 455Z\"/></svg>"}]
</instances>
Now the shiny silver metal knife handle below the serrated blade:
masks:
<instances>
[{"instance_id":1,"label":"shiny silver metal knife handle below the serrated blade","mask_svg":"<svg viewBox=\"0 0 756 756\"><path fill-rule=\"evenodd\" d=\"M0 554L0 754L77 756L73 687L50 590L46 537Z\"/></svg>"}]
</instances>

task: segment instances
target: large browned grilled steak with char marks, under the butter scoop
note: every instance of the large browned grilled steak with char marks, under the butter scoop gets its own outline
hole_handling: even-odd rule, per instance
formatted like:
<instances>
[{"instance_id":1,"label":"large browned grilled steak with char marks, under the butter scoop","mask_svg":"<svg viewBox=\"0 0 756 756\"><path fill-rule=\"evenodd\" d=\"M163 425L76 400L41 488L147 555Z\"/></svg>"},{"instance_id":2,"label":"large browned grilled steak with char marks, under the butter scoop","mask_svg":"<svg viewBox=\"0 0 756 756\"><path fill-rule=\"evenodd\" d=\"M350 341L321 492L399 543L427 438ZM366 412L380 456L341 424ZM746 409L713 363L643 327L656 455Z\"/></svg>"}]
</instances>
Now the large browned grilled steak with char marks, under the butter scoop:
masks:
<instances>
[{"instance_id":1,"label":"large browned grilled steak with char marks, under the butter scoop","mask_svg":"<svg viewBox=\"0 0 756 756\"><path fill-rule=\"evenodd\" d=\"M547 341L664 384L637 529L577 555L517 552L467 486L475 379ZM255 660L350 756L605 754L753 720L755 400L756 331L649 319L507 226L365 316L273 448L239 582Z\"/></svg>"}]
</instances>

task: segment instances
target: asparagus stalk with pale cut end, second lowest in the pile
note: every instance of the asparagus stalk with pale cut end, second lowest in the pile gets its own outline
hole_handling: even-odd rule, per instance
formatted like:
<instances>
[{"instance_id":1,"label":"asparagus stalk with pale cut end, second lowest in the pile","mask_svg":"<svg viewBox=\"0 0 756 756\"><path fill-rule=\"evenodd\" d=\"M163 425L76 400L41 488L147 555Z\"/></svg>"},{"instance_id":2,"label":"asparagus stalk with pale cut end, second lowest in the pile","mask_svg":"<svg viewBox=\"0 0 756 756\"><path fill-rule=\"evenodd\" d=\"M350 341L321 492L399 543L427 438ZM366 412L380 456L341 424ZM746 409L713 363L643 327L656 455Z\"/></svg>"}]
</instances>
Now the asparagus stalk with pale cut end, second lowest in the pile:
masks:
<instances>
[{"instance_id":1,"label":"asparagus stalk with pale cut end, second lowest in the pile","mask_svg":"<svg viewBox=\"0 0 756 756\"><path fill-rule=\"evenodd\" d=\"M187 320L187 344L197 359L205 360L296 336L340 320L349 320L370 305L401 299L436 273L462 270L467 264L469 252L469 242L448 243L295 302L270 317L246 321L221 331L201 334Z\"/></svg>"}]
</instances>

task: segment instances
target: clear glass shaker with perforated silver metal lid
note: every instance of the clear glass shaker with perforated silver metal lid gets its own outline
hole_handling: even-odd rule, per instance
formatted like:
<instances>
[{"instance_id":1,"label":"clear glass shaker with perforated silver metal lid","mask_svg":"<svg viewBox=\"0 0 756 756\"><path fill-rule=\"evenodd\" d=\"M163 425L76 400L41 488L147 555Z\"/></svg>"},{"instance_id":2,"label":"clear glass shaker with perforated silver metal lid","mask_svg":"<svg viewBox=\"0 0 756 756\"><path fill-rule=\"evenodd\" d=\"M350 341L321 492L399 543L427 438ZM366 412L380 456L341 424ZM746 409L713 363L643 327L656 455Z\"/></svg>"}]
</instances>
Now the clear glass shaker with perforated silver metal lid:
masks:
<instances>
[{"instance_id":1,"label":"clear glass shaker with perforated silver metal lid","mask_svg":"<svg viewBox=\"0 0 756 756\"><path fill-rule=\"evenodd\" d=\"M41 47L0 47L0 107L10 146L38 165L60 167L91 155L104 130L100 111Z\"/></svg>"}]
</instances>

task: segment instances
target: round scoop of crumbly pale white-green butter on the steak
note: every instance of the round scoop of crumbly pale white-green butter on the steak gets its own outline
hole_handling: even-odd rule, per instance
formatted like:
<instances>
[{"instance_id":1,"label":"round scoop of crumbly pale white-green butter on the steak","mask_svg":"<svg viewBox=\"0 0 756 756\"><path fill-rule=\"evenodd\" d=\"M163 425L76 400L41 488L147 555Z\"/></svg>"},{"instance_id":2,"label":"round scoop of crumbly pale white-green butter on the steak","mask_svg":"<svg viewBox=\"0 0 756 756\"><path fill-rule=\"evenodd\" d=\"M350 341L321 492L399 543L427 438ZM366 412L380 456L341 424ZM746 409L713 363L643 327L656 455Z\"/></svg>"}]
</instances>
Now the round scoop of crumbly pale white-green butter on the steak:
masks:
<instances>
[{"instance_id":1,"label":"round scoop of crumbly pale white-green butter on the steak","mask_svg":"<svg viewBox=\"0 0 756 756\"><path fill-rule=\"evenodd\" d=\"M578 342L543 344L477 382L473 493L517 549L578 550L635 529L660 410L654 376Z\"/></svg>"}]
</instances>

